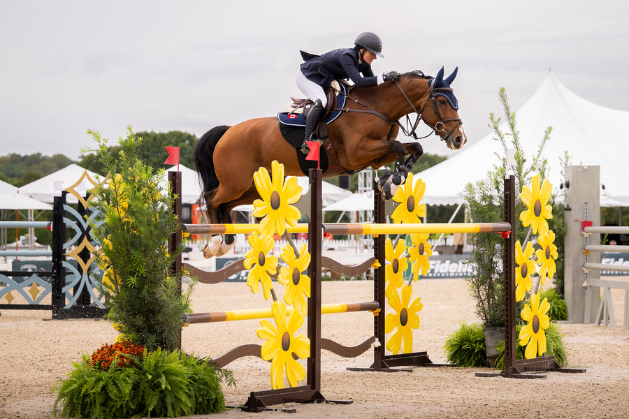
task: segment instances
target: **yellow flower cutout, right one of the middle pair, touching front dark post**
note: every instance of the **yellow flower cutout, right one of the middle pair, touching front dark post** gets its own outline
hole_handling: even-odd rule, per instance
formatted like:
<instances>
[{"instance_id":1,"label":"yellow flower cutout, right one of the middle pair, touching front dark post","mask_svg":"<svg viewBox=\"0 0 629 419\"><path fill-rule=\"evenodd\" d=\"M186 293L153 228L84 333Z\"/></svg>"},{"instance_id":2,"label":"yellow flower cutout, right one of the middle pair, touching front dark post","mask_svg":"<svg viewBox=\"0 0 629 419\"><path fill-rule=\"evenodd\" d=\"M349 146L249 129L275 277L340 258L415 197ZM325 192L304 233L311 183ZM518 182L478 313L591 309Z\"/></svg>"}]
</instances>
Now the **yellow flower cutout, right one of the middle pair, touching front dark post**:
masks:
<instances>
[{"instance_id":1,"label":"yellow flower cutout, right one of the middle pair, touching front dark post","mask_svg":"<svg viewBox=\"0 0 629 419\"><path fill-rule=\"evenodd\" d=\"M310 265L308 247L305 243L302 244L299 249L299 258L297 258L293 247L287 244L282 249L280 258L288 265L280 268L280 275L277 277L277 282L286 286L284 301L306 316L310 297L310 278L303 272L308 273L308 265Z\"/></svg>"}]
</instances>

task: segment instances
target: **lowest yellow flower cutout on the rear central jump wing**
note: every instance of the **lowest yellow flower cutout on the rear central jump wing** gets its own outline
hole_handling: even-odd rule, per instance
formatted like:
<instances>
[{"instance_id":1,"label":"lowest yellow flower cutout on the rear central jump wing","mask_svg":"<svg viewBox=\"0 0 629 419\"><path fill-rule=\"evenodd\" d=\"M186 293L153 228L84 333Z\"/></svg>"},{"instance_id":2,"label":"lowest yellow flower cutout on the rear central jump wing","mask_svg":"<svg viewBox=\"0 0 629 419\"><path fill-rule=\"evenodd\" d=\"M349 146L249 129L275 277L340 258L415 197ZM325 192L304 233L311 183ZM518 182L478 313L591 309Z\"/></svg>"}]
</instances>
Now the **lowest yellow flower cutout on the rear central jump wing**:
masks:
<instances>
[{"instance_id":1,"label":"lowest yellow flower cutout on the rear central jump wing","mask_svg":"<svg viewBox=\"0 0 629 419\"><path fill-rule=\"evenodd\" d=\"M391 333L397 329L389 340L386 341L386 348L394 354L400 353L402 342L404 347L402 353L410 353L413 349L413 329L419 328L419 311L424 308L421 298L417 297L410 302L413 293L412 285L402 287L402 299L398 296L397 290L389 297L389 305L395 313L387 313L384 318L384 332ZM410 304L409 304L410 303Z\"/></svg>"}]
</instances>

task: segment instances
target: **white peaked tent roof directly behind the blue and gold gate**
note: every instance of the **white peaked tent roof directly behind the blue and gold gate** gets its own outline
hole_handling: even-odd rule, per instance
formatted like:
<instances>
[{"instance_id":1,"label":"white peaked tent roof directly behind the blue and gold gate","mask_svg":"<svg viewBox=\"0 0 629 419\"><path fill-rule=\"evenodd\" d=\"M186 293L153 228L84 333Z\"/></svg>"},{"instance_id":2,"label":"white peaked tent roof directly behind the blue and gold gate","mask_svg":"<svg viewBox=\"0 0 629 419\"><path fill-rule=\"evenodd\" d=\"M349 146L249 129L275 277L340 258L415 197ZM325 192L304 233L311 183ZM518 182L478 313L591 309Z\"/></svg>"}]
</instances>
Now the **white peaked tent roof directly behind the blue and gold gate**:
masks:
<instances>
[{"instance_id":1,"label":"white peaked tent roof directly behind the blue and gold gate","mask_svg":"<svg viewBox=\"0 0 629 419\"><path fill-rule=\"evenodd\" d=\"M85 196L89 189L94 187L96 173L84 169L81 166L71 164L66 168L50 173L41 179L26 184L20 188L20 194L40 200L44 203L52 203L55 196L61 196L62 191L74 186L80 196ZM68 194L68 203L78 202L77 198Z\"/></svg>"}]
</instances>

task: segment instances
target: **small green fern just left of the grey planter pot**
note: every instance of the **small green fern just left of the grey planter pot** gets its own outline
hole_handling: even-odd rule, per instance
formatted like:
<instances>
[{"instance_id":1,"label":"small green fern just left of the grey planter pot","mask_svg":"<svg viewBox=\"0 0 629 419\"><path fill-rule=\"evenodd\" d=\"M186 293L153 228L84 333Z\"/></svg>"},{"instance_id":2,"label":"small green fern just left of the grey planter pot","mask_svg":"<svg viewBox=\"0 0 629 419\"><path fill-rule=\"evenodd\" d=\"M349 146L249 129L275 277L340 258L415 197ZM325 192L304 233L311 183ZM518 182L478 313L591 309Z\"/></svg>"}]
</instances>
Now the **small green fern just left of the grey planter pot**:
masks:
<instances>
[{"instance_id":1,"label":"small green fern just left of the grey planter pot","mask_svg":"<svg viewBox=\"0 0 629 419\"><path fill-rule=\"evenodd\" d=\"M448 362L452 362L457 367L484 367L486 365L485 334L480 323L468 325L461 322L461 327L448 337L443 347Z\"/></svg>"}]
</instances>

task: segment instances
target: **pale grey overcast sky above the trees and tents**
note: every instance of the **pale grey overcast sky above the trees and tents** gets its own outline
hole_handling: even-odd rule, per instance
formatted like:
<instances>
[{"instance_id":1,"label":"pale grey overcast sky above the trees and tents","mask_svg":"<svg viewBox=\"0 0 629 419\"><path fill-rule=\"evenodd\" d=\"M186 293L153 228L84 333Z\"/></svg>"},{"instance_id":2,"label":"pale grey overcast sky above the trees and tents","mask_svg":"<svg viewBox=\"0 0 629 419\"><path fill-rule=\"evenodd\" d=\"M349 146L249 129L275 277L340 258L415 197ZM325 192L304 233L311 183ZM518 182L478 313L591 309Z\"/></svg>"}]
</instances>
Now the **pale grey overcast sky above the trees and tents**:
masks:
<instances>
[{"instance_id":1,"label":"pale grey overcast sky above the trees and tents","mask_svg":"<svg viewBox=\"0 0 629 419\"><path fill-rule=\"evenodd\" d=\"M502 115L500 87L517 110L549 68L588 101L629 110L628 22L626 1L2 0L0 155L78 159L88 129L110 142L129 124L200 136L276 115L303 96L300 49L351 47L362 31L383 40L375 72L458 66L470 143ZM422 144L448 154L435 136Z\"/></svg>"}]
</instances>

